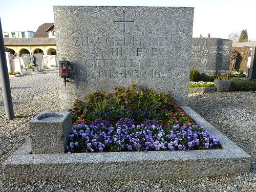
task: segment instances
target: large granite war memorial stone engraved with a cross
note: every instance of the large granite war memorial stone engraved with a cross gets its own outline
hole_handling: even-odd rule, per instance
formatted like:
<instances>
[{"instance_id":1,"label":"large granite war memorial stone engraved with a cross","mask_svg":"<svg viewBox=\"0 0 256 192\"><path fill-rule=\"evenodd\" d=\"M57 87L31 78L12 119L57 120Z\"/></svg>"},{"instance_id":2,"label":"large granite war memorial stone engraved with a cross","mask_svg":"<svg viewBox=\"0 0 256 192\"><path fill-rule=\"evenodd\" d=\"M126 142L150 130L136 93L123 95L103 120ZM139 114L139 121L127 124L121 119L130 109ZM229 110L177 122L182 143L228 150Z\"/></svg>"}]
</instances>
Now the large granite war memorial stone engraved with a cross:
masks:
<instances>
[{"instance_id":1,"label":"large granite war memorial stone engraved with a cross","mask_svg":"<svg viewBox=\"0 0 256 192\"><path fill-rule=\"evenodd\" d=\"M194 8L54 6L58 60L71 63L59 78L61 108L96 90L132 82L168 90L186 105Z\"/></svg>"}]
</instances>

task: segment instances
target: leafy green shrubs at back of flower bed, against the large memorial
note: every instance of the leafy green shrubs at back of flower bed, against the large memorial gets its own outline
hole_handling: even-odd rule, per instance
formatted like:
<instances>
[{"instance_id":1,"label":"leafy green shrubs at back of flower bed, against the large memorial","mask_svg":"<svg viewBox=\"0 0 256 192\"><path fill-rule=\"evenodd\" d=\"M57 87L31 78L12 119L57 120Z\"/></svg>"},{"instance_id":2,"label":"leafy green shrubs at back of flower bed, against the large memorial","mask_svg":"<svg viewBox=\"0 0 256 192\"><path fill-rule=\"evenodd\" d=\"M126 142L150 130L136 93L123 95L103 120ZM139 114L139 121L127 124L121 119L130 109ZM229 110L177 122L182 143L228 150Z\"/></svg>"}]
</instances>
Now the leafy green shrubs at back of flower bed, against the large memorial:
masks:
<instances>
[{"instance_id":1,"label":"leafy green shrubs at back of flower bed, against the large memorial","mask_svg":"<svg viewBox=\"0 0 256 192\"><path fill-rule=\"evenodd\" d=\"M173 102L173 97L167 91L156 93L148 88L137 90L137 85L132 83L130 87L116 87L114 94L96 91L85 97L84 101L77 99L75 109L72 110L72 119L78 119L79 123L100 117L108 120L160 119L163 106ZM86 112L88 110L89 114Z\"/></svg>"}]
</instances>

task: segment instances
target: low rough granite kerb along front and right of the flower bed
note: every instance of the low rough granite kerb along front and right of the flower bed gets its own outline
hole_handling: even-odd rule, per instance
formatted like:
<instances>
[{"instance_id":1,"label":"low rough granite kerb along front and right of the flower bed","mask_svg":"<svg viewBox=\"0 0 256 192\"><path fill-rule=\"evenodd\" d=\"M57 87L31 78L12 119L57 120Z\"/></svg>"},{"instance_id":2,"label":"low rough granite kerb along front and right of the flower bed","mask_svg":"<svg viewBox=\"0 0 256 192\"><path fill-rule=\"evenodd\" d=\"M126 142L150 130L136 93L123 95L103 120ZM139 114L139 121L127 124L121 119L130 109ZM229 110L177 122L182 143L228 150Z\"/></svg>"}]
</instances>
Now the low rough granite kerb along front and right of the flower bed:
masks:
<instances>
[{"instance_id":1,"label":"low rough granite kerb along front and right of the flower bed","mask_svg":"<svg viewBox=\"0 0 256 192\"><path fill-rule=\"evenodd\" d=\"M183 109L221 141L221 150L31 154L31 141L27 141L4 162L5 177L12 181L156 180L249 172L250 156L245 151L188 106Z\"/></svg>"}]
</instances>

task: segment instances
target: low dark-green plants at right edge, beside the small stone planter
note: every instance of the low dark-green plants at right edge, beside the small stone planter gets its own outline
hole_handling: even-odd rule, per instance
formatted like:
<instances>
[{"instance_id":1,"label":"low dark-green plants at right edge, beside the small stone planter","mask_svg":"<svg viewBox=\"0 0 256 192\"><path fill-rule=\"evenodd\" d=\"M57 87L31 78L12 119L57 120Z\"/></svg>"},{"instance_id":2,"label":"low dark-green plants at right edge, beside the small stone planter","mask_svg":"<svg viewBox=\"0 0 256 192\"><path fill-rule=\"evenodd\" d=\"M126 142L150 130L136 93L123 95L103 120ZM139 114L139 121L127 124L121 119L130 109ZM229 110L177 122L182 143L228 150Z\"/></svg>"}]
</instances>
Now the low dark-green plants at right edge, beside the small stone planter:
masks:
<instances>
[{"instance_id":1,"label":"low dark-green plants at right edge, beside the small stone planter","mask_svg":"<svg viewBox=\"0 0 256 192\"><path fill-rule=\"evenodd\" d=\"M229 91L256 91L256 82L248 79L232 79Z\"/></svg>"}]
</instances>

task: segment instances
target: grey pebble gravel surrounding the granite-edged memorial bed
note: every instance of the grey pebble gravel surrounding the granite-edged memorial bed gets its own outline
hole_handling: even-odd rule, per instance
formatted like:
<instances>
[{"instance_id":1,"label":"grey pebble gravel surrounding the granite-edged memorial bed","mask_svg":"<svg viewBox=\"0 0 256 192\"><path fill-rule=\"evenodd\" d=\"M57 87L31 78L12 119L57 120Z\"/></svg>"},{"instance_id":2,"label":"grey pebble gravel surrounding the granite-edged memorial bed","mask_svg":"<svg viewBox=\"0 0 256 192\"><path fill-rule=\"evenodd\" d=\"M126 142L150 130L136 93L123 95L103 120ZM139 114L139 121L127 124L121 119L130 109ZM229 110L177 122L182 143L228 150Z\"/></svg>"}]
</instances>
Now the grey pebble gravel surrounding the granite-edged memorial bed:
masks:
<instances>
[{"instance_id":1,"label":"grey pebble gravel surrounding the granite-edged memorial bed","mask_svg":"<svg viewBox=\"0 0 256 192\"><path fill-rule=\"evenodd\" d=\"M0 191L256 191L256 93L251 92L189 96L191 108L252 156L248 174L190 180L6 182L2 163L29 138L28 121L33 116L41 111L59 110L56 98L57 89L53 89L41 99L17 105L15 119L0 117Z\"/></svg>"}]
</instances>

